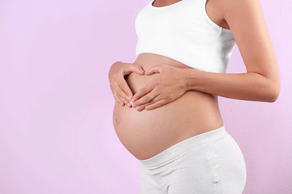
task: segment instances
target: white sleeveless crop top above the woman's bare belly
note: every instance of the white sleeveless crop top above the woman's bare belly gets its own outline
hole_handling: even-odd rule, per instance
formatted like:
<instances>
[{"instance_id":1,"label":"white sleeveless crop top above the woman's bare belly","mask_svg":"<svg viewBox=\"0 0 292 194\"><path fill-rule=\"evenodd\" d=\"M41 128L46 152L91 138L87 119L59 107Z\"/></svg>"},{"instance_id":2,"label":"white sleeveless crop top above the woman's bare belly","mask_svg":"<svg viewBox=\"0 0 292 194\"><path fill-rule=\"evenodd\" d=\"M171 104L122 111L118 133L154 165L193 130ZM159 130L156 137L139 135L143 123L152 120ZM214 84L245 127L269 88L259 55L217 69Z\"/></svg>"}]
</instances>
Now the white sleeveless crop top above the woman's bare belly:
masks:
<instances>
[{"instance_id":1,"label":"white sleeveless crop top above the woman's bare belly","mask_svg":"<svg viewBox=\"0 0 292 194\"><path fill-rule=\"evenodd\" d=\"M136 57L154 53L202 71L225 73L236 45L229 29L207 15L206 0L181 0L154 7L151 0L137 15Z\"/></svg>"}]
</instances>

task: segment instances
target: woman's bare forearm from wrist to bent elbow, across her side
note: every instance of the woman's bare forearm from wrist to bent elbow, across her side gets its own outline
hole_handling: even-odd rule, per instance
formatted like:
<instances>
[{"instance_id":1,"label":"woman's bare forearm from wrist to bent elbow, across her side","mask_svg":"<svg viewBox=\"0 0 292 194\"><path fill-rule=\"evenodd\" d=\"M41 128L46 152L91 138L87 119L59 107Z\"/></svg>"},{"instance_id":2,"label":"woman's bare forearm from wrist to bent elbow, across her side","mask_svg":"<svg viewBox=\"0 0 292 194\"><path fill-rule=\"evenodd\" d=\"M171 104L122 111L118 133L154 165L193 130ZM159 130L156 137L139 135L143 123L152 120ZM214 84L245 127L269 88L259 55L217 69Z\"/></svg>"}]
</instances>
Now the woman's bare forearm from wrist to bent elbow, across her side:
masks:
<instances>
[{"instance_id":1,"label":"woman's bare forearm from wrist to bent elbow, across her side","mask_svg":"<svg viewBox=\"0 0 292 194\"><path fill-rule=\"evenodd\" d=\"M187 90L262 102L274 102L279 95L275 81L254 72L225 74L187 68L183 74Z\"/></svg>"}]
</instances>

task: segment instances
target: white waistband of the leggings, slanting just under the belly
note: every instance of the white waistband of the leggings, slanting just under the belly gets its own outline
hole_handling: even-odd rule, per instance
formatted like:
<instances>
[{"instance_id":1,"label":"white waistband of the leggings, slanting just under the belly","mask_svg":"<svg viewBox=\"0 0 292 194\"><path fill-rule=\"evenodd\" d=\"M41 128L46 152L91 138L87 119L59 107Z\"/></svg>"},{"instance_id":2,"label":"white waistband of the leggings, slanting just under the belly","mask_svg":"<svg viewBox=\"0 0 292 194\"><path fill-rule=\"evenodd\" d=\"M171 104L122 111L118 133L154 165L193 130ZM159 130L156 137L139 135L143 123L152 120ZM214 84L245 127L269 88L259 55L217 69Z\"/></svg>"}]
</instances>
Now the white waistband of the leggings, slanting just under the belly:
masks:
<instances>
[{"instance_id":1,"label":"white waistband of the leggings, slanting just under the belly","mask_svg":"<svg viewBox=\"0 0 292 194\"><path fill-rule=\"evenodd\" d=\"M164 151L160 152L159 154L146 159L146 160L139 160L145 167L157 167L158 165L161 165L167 161L170 161L171 159L179 156L183 152L187 151L188 149L196 146L200 146L203 144L206 144L207 142L211 142L216 139L220 139L224 136L229 134L225 127L222 126L218 129L214 129L211 131L207 131L198 135L195 135L193 137L190 137L188 139L185 139L173 146L168 147Z\"/></svg>"}]
</instances>

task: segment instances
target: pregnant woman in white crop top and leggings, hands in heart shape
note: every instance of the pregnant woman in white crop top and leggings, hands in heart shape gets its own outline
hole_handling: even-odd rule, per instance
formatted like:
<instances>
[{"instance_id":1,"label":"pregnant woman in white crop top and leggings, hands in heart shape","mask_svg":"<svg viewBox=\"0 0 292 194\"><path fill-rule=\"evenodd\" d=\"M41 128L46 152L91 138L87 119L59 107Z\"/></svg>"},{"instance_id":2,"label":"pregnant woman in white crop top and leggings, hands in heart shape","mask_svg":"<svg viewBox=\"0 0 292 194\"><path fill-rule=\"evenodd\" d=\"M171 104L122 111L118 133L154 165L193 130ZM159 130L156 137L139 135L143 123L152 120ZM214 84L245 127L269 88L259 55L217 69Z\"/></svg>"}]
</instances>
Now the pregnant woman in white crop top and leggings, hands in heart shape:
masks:
<instances>
[{"instance_id":1,"label":"pregnant woman in white crop top and leggings, hands in heart shape","mask_svg":"<svg viewBox=\"0 0 292 194\"><path fill-rule=\"evenodd\" d=\"M218 96L278 98L259 0L151 0L135 30L137 59L111 65L109 80L114 129L141 164L140 194L242 194L246 165ZM227 74L236 45L247 72Z\"/></svg>"}]
</instances>

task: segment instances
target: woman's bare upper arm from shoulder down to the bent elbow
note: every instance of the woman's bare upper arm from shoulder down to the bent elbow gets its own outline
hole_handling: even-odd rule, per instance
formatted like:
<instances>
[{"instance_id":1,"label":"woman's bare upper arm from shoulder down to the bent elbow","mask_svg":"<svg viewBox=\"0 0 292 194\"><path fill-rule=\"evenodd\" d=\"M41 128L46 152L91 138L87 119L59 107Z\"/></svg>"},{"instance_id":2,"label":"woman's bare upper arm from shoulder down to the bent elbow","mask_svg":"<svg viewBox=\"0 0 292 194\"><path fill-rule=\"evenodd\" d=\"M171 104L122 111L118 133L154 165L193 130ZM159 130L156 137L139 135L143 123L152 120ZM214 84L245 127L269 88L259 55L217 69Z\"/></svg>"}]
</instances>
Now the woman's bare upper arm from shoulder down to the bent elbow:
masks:
<instances>
[{"instance_id":1,"label":"woman's bare upper arm from shoulder down to the bent elbow","mask_svg":"<svg viewBox=\"0 0 292 194\"><path fill-rule=\"evenodd\" d=\"M276 54L259 0L222 0L221 3L247 72L263 75L279 87Z\"/></svg>"}]
</instances>

